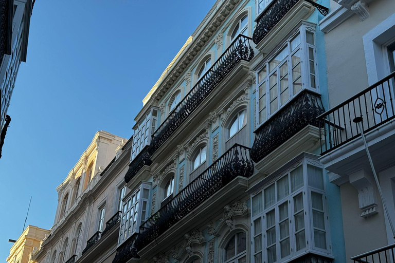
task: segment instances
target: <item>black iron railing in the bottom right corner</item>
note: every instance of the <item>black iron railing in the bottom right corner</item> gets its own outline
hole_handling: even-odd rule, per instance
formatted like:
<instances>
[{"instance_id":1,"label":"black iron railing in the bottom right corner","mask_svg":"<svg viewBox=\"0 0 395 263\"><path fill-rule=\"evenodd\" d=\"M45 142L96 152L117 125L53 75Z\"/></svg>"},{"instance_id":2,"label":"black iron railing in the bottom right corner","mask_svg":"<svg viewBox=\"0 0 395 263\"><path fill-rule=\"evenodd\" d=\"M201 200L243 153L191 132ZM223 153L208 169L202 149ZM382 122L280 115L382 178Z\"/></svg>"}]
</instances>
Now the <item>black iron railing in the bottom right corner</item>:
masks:
<instances>
[{"instance_id":1,"label":"black iron railing in the bottom right corner","mask_svg":"<svg viewBox=\"0 0 395 263\"><path fill-rule=\"evenodd\" d=\"M351 260L354 260L354 263L395 263L394 249L395 244L388 245L386 247L352 257Z\"/></svg>"}]
</instances>

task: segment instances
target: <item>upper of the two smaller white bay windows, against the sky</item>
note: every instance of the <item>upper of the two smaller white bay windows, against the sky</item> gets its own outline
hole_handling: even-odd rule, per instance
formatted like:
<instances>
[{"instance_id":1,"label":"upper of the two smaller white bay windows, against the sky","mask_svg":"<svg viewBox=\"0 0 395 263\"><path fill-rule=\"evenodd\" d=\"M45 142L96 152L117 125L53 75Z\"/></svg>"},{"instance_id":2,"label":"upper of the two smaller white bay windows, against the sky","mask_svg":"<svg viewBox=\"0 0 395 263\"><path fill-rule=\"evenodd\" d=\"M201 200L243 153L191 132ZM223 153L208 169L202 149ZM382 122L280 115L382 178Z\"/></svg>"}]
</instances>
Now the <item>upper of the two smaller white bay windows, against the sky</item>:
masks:
<instances>
[{"instance_id":1,"label":"upper of the two smaller white bay windows, against the sky","mask_svg":"<svg viewBox=\"0 0 395 263\"><path fill-rule=\"evenodd\" d=\"M155 132L158 110L151 108L145 117L134 128L133 148L131 160L133 160L141 150L151 142L151 135Z\"/></svg>"}]
</instances>

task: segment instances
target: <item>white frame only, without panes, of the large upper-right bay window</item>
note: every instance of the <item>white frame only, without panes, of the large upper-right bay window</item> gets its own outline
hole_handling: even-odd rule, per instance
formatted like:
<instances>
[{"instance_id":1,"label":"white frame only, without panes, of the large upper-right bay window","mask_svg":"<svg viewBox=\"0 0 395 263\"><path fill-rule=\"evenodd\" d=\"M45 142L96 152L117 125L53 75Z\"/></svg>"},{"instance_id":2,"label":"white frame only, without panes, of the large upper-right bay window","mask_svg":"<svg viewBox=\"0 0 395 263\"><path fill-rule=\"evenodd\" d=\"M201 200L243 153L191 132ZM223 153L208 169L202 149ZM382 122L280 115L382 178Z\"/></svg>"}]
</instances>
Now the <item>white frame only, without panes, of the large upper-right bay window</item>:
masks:
<instances>
[{"instance_id":1,"label":"white frame only, without panes, of the large upper-right bay window","mask_svg":"<svg viewBox=\"0 0 395 263\"><path fill-rule=\"evenodd\" d=\"M314 91L316 93L319 93L319 78L318 78L318 63L317 63L317 51L316 51L316 47L315 45L311 45L309 43L307 43L306 41L306 31L313 33L313 39L314 39L314 44L316 44L316 37L315 37L315 31L311 30L311 27L307 27L306 25L301 25L298 29L296 29L292 34L291 37L289 37L289 39L287 41L285 41L285 43L282 44L282 46L280 46L280 48L278 48L277 50L279 50L278 52L270 55L270 57L268 57L264 63L262 63L258 70L256 71L256 94L257 94L257 99L256 99L256 125L257 128L259 126L261 126L262 124L264 124L265 122L267 122L273 115L276 114L277 111L279 111L281 108L285 107L288 103L290 103L290 101L292 101L293 98L295 98L300 92L302 92L303 90L311 90ZM291 49L291 41L293 41L297 35L300 34L300 44L294 49ZM271 62L284 48L288 49L288 55L286 56L286 58L284 60L282 60L275 69L271 69L269 67L269 62ZM313 49L313 55L314 55L314 74L315 74L315 88L311 87L311 81L310 81L310 66L309 65L309 48ZM294 89L293 89L293 77L292 77L292 55L295 54L296 52L300 52L300 66L301 66L301 83L302 83L302 87L300 90L298 90L296 93L294 93ZM289 98L288 100L286 100L282 105L281 105L281 90L280 90L280 67L285 64L288 63L288 92L289 92ZM266 69L270 70L268 72L266 72L266 76L260 81L259 80L259 73L262 72L262 69ZM275 73L277 72L277 109L273 112L270 111L270 77L273 76ZM260 93L259 88L262 86L264 86L264 90L265 93ZM263 86L262 86L263 87ZM264 108L260 108L259 105L259 99L262 98L265 99L265 110L266 110L266 114L265 114L265 119L264 120L260 120L260 111Z\"/></svg>"}]
</instances>

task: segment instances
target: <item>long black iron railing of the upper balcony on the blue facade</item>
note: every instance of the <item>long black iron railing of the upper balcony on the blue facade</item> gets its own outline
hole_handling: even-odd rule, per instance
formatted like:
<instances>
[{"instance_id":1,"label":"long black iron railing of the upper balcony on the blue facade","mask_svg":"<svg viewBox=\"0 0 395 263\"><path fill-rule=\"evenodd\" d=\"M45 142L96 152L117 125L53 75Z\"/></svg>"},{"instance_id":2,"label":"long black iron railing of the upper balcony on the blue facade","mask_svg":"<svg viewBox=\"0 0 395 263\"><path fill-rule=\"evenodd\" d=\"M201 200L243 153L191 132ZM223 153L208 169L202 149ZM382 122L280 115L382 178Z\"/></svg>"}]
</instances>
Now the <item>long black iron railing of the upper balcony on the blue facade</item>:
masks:
<instances>
[{"instance_id":1,"label":"long black iron railing of the upper balcony on the blue facade","mask_svg":"<svg viewBox=\"0 0 395 263\"><path fill-rule=\"evenodd\" d=\"M153 154L181 126L241 60L252 60L254 50L250 47L249 40L249 37L240 34L184 99L175 106L175 109L152 135L150 154Z\"/></svg>"}]
</instances>

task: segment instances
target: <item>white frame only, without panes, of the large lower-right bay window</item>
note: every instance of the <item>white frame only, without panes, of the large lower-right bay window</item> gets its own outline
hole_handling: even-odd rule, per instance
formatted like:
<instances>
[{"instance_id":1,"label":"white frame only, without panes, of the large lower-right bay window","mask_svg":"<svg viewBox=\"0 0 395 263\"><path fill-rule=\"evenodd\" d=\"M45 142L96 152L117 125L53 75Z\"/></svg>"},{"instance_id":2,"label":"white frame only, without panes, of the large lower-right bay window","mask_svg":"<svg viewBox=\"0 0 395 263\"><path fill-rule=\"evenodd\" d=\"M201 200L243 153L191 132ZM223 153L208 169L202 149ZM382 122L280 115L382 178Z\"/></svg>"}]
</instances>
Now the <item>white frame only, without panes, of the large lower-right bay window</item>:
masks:
<instances>
[{"instance_id":1,"label":"white frame only, without panes, of the large lower-right bay window","mask_svg":"<svg viewBox=\"0 0 395 263\"><path fill-rule=\"evenodd\" d=\"M255 255L258 255L259 253L262 253L262 262L268 262L267 260L267 251L266 251L266 240L267 240L267 235L266 235L266 214L273 209L275 209L275 216L276 216L276 261L275 262L284 262L284 261L290 261L292 259L297 258L301 254L306 253L307 251L312 251L321 255L329 256L331 257L332 255L332 248L331 248L331 236L330 236L330 226L329 226L329 217L328 217L328 204L327 204L327 197L326 197L326 180L325 180L325 170L322 165L317 164L318 162L314 159L310 159L307 157L304 157L301 161L296 162L295 165L293 165L292 168L285 169L285 171L280 172L279 176L277 176L275 179L271 179L270 182L267 183L263 187L263 189L259 190L259 192L254 193L254 195L251 196L250 201L251 201L251 208L253 210L253 198L258 195L262 195L262 206L261 206L261 211L257 214L253 214L253 211L251 213L251 222L252 222L252 231L251 231L251 237L252 237L252 249L251 249L251 257L253 258L252 262L255 261ZM324 190L318 189L316 187L310 186L308 182L308 174L307 174L307 165L315 166L318 167L322 170L322 180L324 182ZM295 171L297 168L302 166L303 168L303 185L299 188L296 189L293 193L291 193L291 172ZM285 176L288 176L288 182L289 182L289 194L285 197L283 197L281 200L277 200L277 182L284 178ZM266 209L264 207L264 191L268 189L268 187L275 185L275 203L271 204L268 206ZM326 245L327 249L321 249L318 247L315 247L315 240L314 240L314 226L313 226L313 208L312 208L312 199L311 199L311 192L316 192L319 194L322 194L322 201L324 205L324 220L325 220L325 231L326 231ZM294 197L302 194L303 196L303 214L304 214L304 232L305 232L305 241L306 241L306 247L300 249L299 251L296 251L296 239L295 239L295 219L294 219L294 214L297 211L294 211ZM283 204L285 201L288 201L288 220L291 220L289 223L289 238L290 238L290 248L291 248L291 254L288 256L285 256L284 258L280 258L281 252L280 252L280 243L279 243L279 237L280 237L280 228L279 226L279 214L278 214L278 207L279 205ZM261 220L261 233L255 233L255 221L256 220ZM255 239L254 237L257 237L261 235L261 251L257 251L255 253Z\"/></svg>"}]
</instances>

